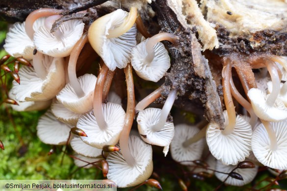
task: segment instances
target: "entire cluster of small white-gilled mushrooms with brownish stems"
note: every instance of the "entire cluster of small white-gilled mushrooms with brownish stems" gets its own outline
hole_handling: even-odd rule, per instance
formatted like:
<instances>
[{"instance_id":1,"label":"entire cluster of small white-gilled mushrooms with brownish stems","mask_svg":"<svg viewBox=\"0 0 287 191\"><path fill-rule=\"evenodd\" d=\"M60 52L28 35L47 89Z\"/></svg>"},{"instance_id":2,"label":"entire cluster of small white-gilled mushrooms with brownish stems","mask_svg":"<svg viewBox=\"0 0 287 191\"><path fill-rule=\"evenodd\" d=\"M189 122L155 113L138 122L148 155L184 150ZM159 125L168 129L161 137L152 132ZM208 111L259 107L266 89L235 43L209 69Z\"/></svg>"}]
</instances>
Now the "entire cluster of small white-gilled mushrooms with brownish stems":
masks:
<instances>
[{"instance_id":1,"label":"entire cluster of small white-gilled mushrooms with brownish stems","mask_svg":"<svg viewBox=\"0 0 287 191\"><path fill-rule=\"evenodd\" d=\"M10 55L30 63L20 68L20 80L13 81L9 96L19 104L12 105L13 109L50 107L37 125L42 142L69 142L77 153L78 166L92 167L93 162L106 161L107 178L121 188L138 185L151 176L151 145L162 146L164 156L170 150L175 161L194 173L213 174L210 169L225 172L215 173L222 181L238 163L254 163L253 168L235 170L243 180L225 180L235 186L251 182L262 165L287 169L286 58L260 54L225 57L224 126L205 122L197 126L174 125L168 118L177 89L170 89L162 109L146 109L161 95L161 88L135 105L132 70L144 80L160 80L170 68L169 53L160 41L169 41L176 48L179 37L165 32L151 37L135 7L130 12L117 9L90 26L79 19L69 20L51 33L61 12L51 8L33 11L24 23L10 28L4 45ZM138 31L144 36L141 42L136 40ZM100 57L98 76L85 72L87 59L79 57L87 43L95 52L84 56L94 60ZM126 111L121 98L109 91L116 68L124 69L126 75ZM232 68L238 73L247 99L236 90ZM236 115L233 97L249 115ZM134 119L138 133L131 131ZM207 145L209 149L205 149ZM115 151L108 152L112 150ZM204 160L209 167L195 166L196 160Z\"/></svg>"}]
</instances>

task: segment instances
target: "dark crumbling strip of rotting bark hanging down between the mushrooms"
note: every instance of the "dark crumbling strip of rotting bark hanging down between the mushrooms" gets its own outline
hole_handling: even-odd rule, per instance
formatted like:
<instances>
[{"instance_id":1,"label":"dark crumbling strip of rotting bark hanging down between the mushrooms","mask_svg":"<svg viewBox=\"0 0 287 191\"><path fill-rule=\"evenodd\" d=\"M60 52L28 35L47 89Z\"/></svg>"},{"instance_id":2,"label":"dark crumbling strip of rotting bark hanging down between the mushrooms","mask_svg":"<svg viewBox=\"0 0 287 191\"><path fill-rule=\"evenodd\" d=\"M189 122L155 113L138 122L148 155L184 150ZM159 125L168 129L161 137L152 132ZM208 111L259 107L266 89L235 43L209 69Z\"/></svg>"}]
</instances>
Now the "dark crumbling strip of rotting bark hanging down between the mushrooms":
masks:
<instances>
[{"instance_id":1,"label":"dark crumbling strip of rotting bark hanging down between the mushrooms","mask_svg":"<svg viewBox=\"0 0 287 191\"><path fill-rule=\"evenodd\" d=\"M180 37L180 45L174 47L165 43L171 54L172 68L166 73L165 91L171 86L178 89L180 96L199 98L205 107L205 117L209 122L223 127L223 113L215 82L209 70L208 60L201 54L200 44L194 31L189 28L182 14L177 11L172 0L156 0L152 3L157 13L161 30Z\"/></svg>"}]
</instances>

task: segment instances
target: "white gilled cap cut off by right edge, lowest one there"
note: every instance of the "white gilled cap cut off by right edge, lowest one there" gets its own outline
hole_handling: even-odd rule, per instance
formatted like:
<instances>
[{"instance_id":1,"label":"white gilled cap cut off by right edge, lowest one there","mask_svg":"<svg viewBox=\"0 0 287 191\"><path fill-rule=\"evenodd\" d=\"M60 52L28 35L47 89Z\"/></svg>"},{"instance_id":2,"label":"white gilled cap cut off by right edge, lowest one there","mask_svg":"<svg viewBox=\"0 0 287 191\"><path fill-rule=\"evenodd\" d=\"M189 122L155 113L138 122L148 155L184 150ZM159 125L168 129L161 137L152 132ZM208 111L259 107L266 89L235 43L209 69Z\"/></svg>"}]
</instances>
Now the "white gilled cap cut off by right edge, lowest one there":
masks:
<instances>
[{"instance_id":1,"label":"white gilled cap cut off by right edge, lowest one there","mask_svg":"<svg viewBox=\"0 0 287 191\"><path fill-rule=\"evenodd\" d=\"M270 139L263 124L260 124L252 136L252 151L262 165L275 168L287 169L287 122L270 122L277 139L277 149L270 148Z\"/></svg>"}]
</instances>

